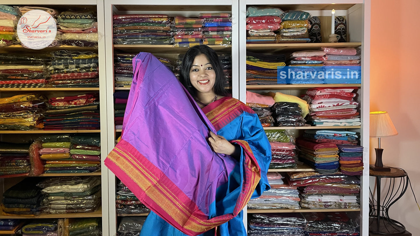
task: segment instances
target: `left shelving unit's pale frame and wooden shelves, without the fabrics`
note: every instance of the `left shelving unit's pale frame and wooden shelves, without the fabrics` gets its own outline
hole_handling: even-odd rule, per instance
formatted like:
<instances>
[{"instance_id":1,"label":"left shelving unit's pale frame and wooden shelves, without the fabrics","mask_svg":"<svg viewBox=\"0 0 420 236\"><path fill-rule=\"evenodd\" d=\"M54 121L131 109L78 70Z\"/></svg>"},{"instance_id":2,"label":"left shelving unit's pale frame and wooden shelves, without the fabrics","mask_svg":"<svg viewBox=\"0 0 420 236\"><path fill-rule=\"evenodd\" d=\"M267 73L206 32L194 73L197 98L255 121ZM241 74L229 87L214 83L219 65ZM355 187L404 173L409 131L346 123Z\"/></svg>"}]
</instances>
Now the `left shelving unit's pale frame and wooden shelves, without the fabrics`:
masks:
<instances>
[{"instance_id":1,"label":"left shelving unit's pale frame and wooden shelves, without the fabrics","mask_svg":"<svg viewBox=\"0 0 420 236\"><path fill-rule=\"evenodd\" d=\"M45 49L33 50L26 49L20 45L11 45L8 47L0 47L0 53L8 54L21 54L21 53L47 53L51 51L58 51L60 49L66 50L80 50L80 51L95 51L99 55L99 73L100 73L100 87L99 88L0 88L0 97L14 96L21 93L40 93L48 98L52 96L70 96L83 94L88 92L99 92L100 93L100 130L29 130L29 131L10 131L1 130L0 140L8 142L18 142L19 140L36 139L41 135L47 134L73 134L73 133L100 133L101 137L101 153L102 163L101 170L87 174L41 174L31 178L45 178L50 176L101 176L101 189L102 189L102 204L101 207L92 213L66 213L66 214L45 214L41 213L34 217L21 217L21 216L4 216L0 213L1 219L8 218L22 218L22 219L40 219L40 218L87 218L87 217L99 217L102 218L102 226L108 225L108 169L103 164L103 160L108 153L107 146L107 119L106 119L106 80L105 80L105 27L104 27L104 3L101 0L73 0L69 3L63 4L60 1L53 0L3 0L3 5L11 6L41 6L47 8L53 8L59 12L65 10L91 10L97 14L98 22L98 34L99 41L97 48L88 47L73 47L73 46L60 46L50 47ZM0 179L0 196L3 196L3 192L14 184L20 182L25 177L14 177L14 178L3 178ZM104 217L102 217L104 216ZM108 236L108 228L104 227L102 230L103 236Z\"/></svg>"}]
</instances>

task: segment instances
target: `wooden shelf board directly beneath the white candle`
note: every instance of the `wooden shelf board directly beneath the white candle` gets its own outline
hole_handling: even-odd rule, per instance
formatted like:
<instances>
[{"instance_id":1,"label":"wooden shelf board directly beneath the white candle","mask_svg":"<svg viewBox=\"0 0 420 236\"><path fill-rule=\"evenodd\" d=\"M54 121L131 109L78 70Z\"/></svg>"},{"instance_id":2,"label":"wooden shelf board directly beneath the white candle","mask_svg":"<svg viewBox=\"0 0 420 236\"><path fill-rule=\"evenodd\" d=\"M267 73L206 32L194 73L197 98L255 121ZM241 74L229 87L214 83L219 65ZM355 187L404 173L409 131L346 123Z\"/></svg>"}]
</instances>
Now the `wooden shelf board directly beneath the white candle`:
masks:
<instances>
[{"instance_id":1,"label":"wooden shelf board directly beneath the white candle","mask_svg":"<svg viewBox=\"0 0 420 236\"><path fill-rule=\"evenodd\" d=\"M279 44L247 44L247 50L268 50L276 51L301 51L301 50L318 50L321 47L360 47L362 43L279 43Z\"/></svg>"}]
</instances>

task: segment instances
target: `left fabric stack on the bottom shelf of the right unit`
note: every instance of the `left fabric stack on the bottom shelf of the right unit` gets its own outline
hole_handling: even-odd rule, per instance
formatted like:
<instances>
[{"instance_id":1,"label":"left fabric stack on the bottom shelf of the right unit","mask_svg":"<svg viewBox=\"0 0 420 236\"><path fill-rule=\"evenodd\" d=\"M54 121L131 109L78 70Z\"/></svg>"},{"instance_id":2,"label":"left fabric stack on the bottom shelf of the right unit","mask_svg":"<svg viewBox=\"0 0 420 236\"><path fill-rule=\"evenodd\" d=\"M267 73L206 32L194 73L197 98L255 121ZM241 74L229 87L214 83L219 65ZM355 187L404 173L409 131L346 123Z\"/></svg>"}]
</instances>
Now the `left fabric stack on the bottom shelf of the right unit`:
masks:
<instances>
[{"instance_id":1,"label":"left fabric stack on the bottom shelf of the right unit","mask_svg":"<svg viewBox=\"0 0 420 236\"><path fill-rule=\"evenodd\" d=\"M301 213L259 213L249 218L249 236L304 236L306 219Z\"/></svg>"}]
</instances>

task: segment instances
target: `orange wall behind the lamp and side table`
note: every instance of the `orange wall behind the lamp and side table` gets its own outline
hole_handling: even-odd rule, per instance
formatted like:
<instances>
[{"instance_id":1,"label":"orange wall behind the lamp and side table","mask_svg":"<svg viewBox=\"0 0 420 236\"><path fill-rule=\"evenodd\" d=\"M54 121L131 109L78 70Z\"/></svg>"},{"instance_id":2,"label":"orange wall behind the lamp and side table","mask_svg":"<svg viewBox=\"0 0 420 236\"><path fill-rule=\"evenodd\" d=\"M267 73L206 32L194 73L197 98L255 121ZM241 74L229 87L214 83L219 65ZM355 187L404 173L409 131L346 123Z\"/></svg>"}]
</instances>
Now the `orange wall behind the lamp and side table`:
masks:
<instances>
[{"instance_id":1,"label":"orange wall behind the lamp and side table","mask_svg":"<svg viewBox=\"0 0 420 236\"><path fill-rule=\"evenodd\" d=\"M407 171L420 203L420 1L371 3L370 111L388 111L399 134L381 139L383 164ZM370 163L377 143L370 139ZM389 215L420 235L420 210L409 187Z\"/></svg>"}]
</instances>

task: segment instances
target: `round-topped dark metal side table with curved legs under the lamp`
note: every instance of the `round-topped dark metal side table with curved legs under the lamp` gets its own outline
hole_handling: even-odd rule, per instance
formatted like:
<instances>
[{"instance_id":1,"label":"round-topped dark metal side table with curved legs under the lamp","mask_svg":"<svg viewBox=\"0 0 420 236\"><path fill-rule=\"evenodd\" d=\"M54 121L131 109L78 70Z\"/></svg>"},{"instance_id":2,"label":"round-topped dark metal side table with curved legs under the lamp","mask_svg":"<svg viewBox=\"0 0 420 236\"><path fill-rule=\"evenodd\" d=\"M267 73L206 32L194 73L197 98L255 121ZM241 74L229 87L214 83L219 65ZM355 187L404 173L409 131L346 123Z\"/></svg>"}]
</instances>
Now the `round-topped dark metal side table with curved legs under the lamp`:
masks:
<instances>
[{"instance_id":1,"label":"round-topped dark metal side table with curved legs under the lamp","mask_svg":"<svg viewBox=\"0 0 420 236\"><path fill-rule=\"evenodd\" d=\"M398 234L404 233L402 223L389 217L389 208L398 201L408 187L407 172L403 169L392 168L391 171L369 171L370 176L376 177L376 199L372 190L369 195L369 232L375 234ZM381 199L381 179L387 179L389 184L383 189L386 196Z\"/></svg>"}]
</instances>

